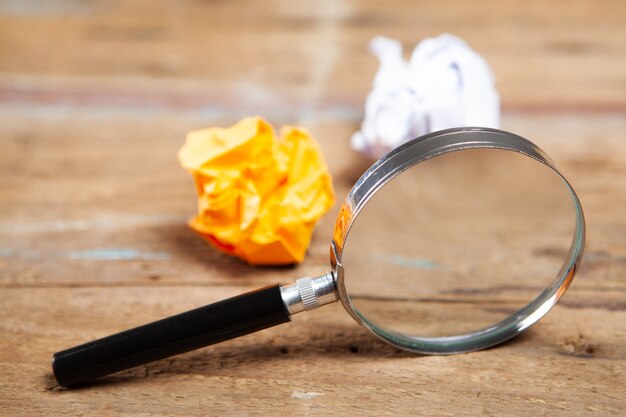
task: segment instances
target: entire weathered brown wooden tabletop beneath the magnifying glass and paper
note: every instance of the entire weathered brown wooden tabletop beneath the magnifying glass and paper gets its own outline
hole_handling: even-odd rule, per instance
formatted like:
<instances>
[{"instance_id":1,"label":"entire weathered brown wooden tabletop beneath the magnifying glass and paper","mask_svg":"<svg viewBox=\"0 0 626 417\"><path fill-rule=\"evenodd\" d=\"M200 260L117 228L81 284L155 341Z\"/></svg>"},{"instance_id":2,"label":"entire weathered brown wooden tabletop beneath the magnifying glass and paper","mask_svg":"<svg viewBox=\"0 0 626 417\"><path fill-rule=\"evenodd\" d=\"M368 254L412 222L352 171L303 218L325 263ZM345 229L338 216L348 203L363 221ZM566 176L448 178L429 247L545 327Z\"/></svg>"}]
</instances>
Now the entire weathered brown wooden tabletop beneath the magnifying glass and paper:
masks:
<instances>
[{"instance_id":1,"label":"entire weathered brown wooden tabletop beneath the magnifying glass and paper","mask_svg":"<svg viewBox=\"0 0 626 417\"><path fill-rule=\"evenodd\" d=\"M0 1L0 415L626 414L626 3ZM339 305L59 388L50 355L164 315L321 273L252 268L186 226L187 131L251 114L304 124L339 198L376 69L373 35L448 31L492 65L502 127L538 143L588 222L580 273L524 335L400 352ZM549 248L548 248L549 249ZM546 250L546 256L553 256Z\"/></svg>"}]
</instances>

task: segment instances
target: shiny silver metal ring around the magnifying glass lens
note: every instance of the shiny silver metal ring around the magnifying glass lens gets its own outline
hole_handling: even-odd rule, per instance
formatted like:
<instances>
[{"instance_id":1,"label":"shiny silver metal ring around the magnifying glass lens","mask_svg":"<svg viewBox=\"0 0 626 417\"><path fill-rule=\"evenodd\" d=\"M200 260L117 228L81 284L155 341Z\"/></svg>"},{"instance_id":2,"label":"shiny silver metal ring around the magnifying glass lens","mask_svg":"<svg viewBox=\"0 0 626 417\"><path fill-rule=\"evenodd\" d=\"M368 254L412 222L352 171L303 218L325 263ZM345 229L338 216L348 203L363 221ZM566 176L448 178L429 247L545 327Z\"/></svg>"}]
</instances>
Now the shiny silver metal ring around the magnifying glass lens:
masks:
<instances>
[{"instance_id":1,"label":"shiny silver metal ring around the magnifying glass lens","mask_svg":"<svg viewBox=\"0 0 626 417\"><path fill-rule=\"evenodd\" d=\"M576 214L576 227L572 244L561 270L550 285L525 307L499 323L475 332L428 338L379 327L358 311L346 292L341 256L352 224L369 199L406 169L439 155L479 148L521 153L548 166L561 178L572 197ZM339 227L340 229L337 229ZM339 230L338 233L337 230ZM485 349L502 343L523 332L547 314L571 284L582 258L584 243L585 217L580 200L571 184L539 147L527 139L509 132L498 129L466 127L442 130L409 141L383 156L363 174L348 194L340 211L336 234L331 243L331 264L337 280L341 303L358 323L384 341L404 350L427 354L453 354Z\"/></svg>"}]
</instances>

